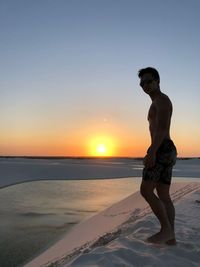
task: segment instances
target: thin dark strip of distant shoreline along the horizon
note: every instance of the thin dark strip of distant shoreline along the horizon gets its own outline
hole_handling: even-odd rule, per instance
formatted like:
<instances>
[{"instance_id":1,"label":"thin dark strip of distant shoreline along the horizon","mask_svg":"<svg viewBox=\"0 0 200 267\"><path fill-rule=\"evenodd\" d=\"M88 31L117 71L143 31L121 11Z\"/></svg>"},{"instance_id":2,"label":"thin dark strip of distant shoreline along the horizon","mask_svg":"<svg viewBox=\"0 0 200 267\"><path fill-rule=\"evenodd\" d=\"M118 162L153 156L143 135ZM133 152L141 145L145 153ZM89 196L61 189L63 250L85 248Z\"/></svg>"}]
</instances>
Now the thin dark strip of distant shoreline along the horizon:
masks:
<instances>
[{"instance_id":1,"label":"thin dark strip of distant shoreline along the horizon","mask_svg":"<svg viewBox=\"0 0 200 267\"><path fill-rule=\"evenodd\" d=\"M2 158L22 158L22 159L92 159L92 160L105 160L105 159L127 159L127 160L143 160L143 157L92 157L92 156L0 156ZM191 160L200 159L200 157L178 157L178 160Z\"/></svg>"}]
</instances>

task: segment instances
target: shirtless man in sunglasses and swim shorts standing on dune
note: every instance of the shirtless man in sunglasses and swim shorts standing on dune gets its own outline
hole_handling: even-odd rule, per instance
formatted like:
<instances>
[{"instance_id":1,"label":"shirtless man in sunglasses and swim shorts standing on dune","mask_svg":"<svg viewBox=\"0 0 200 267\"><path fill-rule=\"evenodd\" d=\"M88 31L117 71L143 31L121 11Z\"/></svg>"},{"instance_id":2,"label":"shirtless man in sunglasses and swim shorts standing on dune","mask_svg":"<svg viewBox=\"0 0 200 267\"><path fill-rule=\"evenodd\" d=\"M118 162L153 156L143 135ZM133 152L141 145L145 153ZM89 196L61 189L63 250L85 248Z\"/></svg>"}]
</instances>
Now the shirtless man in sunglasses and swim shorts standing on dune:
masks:
<instances>
[{"instance_id":1,"label":"shirtless man in sunglasses and swim shorts standing on dune","mask_svg":"<svg viewBox=\"0 0 200 267\"><path fill-rule=\"evenodd\" d=\"M170 198L172 168L176 162L176 147L170 139L172 103L160 91L160 77L156 69L148 67L138 72L140 86L152 100L148 112L151 146L144 158L140 192L158 218L161 229L150 236L151 243L175 245L175 209ZM157 195L154 193L156 189Z\"/></svg>"}]
</instances>

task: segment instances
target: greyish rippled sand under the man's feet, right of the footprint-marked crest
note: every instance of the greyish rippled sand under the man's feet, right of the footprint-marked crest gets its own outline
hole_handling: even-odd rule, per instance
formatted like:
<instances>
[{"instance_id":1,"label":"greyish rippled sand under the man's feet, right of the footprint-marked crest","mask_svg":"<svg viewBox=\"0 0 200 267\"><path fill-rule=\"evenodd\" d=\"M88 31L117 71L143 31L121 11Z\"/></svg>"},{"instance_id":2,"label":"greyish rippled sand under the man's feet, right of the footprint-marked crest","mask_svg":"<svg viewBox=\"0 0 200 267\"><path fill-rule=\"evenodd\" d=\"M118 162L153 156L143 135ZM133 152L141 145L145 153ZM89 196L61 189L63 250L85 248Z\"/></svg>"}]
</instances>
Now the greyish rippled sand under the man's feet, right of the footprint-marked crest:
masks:
<instances>
[{"instance_id":1,"label":"greyish rippled sand under the man's feet, right of the footprint-marked crest","mask_svg":"<svg viewBox=\"0 0 200 267\"><path fill-rule=\"evenodd\" d=\"M187 184L185 189L191 185ZM196 186L195 186L196 187ZM198 185L199 188L199 185ZM176 203L176 246L153 245L145 239L159 229L152 214L138 214L130 217L113 236L94 243L80 256L63 266L199 266L199 201L200 190L181 196ZM191 188L192 189L192 188ZM196 188L195 188L196 190ZM198 214L198 215L197 215ZM143 217L144 216L144 217ZM135 220L136 219L136 220ZM108 234L107 234L108 235ZM62 264L61 264L62 265Z\"/></svg>"}]
</instances>

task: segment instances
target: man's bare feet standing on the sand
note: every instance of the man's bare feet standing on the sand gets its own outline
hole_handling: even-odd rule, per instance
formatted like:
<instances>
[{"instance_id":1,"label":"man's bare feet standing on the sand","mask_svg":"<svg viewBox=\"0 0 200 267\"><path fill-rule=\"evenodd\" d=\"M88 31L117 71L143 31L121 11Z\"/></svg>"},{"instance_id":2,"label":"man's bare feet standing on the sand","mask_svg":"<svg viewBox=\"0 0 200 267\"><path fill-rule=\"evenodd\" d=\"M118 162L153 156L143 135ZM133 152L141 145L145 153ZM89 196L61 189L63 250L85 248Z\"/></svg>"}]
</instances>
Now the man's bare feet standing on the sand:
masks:
<instances>
[{"instance_id":1,"label":"man's bare feet standing on the sand","mask_svg":"<svg viewBox=\"0 0 200 267\"><path fill-rule=\"evenodd\" d=\"M173 242L172 242L173 241ZM155 243L155 244L167 244L172 245L175 243L174 233L171 231L160 231L147 239L147 242ZM175 244L173 244L175 245Z\"/></svg>"}]
</instances>

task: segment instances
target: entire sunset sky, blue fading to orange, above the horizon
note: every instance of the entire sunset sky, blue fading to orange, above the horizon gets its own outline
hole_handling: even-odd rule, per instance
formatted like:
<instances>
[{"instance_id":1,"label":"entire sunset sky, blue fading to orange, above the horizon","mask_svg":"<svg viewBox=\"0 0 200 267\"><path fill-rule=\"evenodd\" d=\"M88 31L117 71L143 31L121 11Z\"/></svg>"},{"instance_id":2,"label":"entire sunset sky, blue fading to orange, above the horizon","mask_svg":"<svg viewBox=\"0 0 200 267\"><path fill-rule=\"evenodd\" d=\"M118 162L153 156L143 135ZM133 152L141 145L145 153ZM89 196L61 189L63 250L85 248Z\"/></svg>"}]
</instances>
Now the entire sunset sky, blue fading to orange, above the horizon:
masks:
<instances>
[{"instance_id":1,"label":"entire sunset sky, blue fading to orange, above the horizon","mask_svg":"<svg viewBox=\"0 0 200 267\"><path fill-rule=\"evenodd\" d=\"M200 156L200 1L0 0L0 155L144 156L155 67Z\"/></svg>"}]
</instances>

